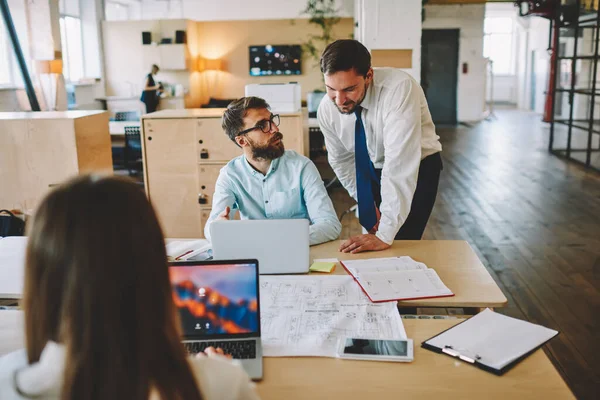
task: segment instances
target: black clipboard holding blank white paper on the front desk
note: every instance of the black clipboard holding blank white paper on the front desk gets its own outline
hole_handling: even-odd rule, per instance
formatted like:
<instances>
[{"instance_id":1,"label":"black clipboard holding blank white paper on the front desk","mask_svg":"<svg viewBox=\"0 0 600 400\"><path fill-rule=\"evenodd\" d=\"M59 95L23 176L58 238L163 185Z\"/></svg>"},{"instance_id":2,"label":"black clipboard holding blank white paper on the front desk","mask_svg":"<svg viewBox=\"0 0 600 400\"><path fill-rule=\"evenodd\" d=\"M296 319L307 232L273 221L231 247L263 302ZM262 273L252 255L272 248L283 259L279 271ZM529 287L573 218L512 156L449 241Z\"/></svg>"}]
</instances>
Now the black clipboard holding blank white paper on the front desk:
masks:
<instances>
[{"instance_id":1,"label":"black clipboard holding blank white paper on the front desk","mask_svg":"<svg viewBox=\"0 0 600 400\"><path fill-rule=\"evenodd\" d=\"M502 375L557 334L488 308L424 341L421 347Z\"/></svg>"}]
</instances>

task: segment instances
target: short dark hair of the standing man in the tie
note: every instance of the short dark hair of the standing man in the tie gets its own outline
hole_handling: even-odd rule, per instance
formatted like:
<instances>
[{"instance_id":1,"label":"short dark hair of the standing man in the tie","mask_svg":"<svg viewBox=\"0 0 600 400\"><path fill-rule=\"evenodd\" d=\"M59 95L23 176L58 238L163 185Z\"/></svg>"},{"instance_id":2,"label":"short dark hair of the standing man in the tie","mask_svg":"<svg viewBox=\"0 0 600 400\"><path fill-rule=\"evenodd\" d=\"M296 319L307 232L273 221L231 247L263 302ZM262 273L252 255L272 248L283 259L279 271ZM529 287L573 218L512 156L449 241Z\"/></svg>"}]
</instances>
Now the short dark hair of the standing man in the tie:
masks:
<instances>
[{"instance_id":1,"label":"short dark hair of the standing man in the tie","mask_svg":"<svg viewBox=\"0 0 600 400\"><path fill-rule=\"evenodd\" d=\"M371 54L358 40L340 39L325 48L320 65L321 72L327 75L355 69L357 74L367 76Z\"/></svg>"}]
</instances>

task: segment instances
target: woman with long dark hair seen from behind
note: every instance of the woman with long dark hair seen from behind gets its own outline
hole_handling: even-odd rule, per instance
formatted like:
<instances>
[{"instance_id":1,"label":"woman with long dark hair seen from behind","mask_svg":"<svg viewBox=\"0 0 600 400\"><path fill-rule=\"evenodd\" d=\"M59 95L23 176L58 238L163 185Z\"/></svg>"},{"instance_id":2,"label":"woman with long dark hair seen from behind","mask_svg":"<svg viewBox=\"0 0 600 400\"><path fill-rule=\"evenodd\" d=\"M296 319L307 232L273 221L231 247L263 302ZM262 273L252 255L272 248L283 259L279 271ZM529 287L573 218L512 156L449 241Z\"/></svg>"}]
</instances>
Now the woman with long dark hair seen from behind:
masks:
<instances>
[{"instance_id":1,"label":"woman with long dark hair seen from behind","mask_svg":"<svg viewBox=\"0 0 600 400\"><path fill-rule=\"evenodd\" d=\"M28 228L26 348L0 358L0 399L257 399L218 351L186 356L163 235L133 182L75 178Z\"/></svg>"}]
</instances>

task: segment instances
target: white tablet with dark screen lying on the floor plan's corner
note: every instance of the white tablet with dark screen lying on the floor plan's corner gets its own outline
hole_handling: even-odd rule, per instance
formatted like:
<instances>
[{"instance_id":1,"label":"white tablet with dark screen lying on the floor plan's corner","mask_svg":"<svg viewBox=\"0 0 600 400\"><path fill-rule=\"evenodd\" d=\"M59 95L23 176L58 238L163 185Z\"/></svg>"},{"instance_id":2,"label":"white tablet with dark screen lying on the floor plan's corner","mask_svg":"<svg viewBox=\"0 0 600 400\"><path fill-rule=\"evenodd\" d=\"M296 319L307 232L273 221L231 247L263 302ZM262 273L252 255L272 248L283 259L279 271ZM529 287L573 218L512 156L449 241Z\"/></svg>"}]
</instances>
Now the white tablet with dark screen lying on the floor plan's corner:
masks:
<instances>
[{"instance_id":1,"label":"white tablet with dark screen lying on the floor plan's corner","mask_svg":"<svg viewBox=\"0 0 600 400\"><path fill-rule=\"evenodd\" d=\"M355 360L410 362L413 360L412 339L342 338L338 357Z\"/></svg>"}]
</instances>

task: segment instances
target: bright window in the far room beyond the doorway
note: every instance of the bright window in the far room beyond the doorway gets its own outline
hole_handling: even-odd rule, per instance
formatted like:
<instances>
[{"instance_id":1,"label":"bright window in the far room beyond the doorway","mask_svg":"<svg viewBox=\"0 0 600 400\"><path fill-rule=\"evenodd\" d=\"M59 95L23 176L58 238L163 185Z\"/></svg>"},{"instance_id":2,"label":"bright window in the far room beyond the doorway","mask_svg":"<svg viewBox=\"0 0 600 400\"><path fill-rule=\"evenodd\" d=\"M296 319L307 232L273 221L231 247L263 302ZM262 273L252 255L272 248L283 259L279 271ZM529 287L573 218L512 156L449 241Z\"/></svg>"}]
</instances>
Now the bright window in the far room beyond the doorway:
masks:
<instances>
[{"instance_id":1,"label":"bright window in the far room beyond the doorway","mask_svg":"<svg viewBox=\"0 0 600 400\"><path fill-rule=\"evenodd\" d=\"M494 74L513 74L512 18L488 17L484 20L483 31L483 56L492 60Z\"/></svg>"}]
</instances>

